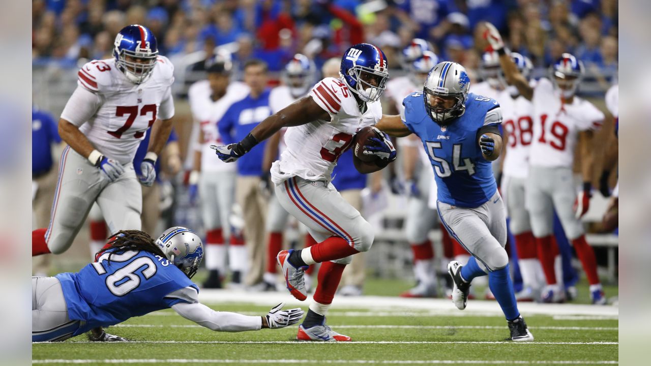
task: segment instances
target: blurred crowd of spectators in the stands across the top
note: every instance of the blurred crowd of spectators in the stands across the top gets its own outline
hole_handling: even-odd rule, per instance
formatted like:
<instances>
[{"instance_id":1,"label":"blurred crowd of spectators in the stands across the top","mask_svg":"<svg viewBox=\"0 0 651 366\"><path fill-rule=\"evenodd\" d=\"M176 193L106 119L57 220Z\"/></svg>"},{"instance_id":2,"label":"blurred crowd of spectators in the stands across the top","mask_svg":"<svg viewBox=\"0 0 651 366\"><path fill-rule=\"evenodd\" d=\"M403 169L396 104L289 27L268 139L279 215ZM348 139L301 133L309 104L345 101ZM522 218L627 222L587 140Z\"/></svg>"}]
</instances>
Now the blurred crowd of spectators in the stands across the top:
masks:
<instances>
[{"instance_id":1,"label":"blurred crowd of spectators in the stands across the top","mask_svg":"<svg viewBox=\"0 0 651 366\"><path fill-rule=\"evenodd\" d=\"M618 63L617 8L616 0L34 0L33 63L111 57L117 32L142 24L168 57L224 46L240 64L262 59L272 72L297 52L320 68L359 42L383 49L398 68L412 38L475 69L483 51L477 25L490 21L534 66L571 52L589 72L610 76Z\"/></svg>"}]
</instances>

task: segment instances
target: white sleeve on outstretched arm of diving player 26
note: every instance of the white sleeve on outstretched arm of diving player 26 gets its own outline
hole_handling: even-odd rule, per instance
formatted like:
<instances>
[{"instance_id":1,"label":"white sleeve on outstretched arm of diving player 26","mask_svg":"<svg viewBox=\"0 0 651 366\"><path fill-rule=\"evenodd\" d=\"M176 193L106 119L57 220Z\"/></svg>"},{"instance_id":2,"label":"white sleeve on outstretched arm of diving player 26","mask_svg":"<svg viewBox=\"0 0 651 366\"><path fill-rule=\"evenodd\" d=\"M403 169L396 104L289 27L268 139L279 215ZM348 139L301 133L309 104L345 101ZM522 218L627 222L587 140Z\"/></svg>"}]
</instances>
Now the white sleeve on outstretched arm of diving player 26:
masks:
<instances>
[{"instance_id":1,"label":"white sleeve on outstretched arm of diving player 26","mask_svg":"<svg viewBox=\"0 0 651 366\"><path fill-rule=\"evenodd\" d=\"M202 303L175 303L172 309L178 315L214 331L260 330L262 317L249 317L228 311L214 311Z\"/></svg>"}]
</instances>

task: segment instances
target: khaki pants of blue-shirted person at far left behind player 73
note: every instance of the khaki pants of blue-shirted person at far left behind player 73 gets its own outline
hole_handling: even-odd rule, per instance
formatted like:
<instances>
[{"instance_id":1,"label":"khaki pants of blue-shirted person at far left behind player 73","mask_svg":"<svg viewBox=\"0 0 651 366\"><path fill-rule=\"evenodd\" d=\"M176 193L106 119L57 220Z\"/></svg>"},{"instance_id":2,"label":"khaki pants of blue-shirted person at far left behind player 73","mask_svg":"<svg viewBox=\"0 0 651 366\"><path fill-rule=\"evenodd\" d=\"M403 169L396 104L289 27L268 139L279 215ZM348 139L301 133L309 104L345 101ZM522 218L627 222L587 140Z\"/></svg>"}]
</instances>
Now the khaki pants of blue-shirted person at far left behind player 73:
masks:
<instances>
[{"instance_id":1,"label":"khaki pants of blue-shirted person at far left behind player 73","mask_svg":"<svg viewBox=\"0 0 651 366\"><path fill-rule=\"evenodd\" d=\"M34 229L39 227L48 227L49 214L52 210L52 201L54 201L54 191L57 188L57 167L54 165L52 169L45 175L39 176L34 179L38 188L36 196L32 201L32 215ZM32 273L33 274L46 274L52 259L51 254L39 255L32 259Z\"/></svg>"}]
</instances>

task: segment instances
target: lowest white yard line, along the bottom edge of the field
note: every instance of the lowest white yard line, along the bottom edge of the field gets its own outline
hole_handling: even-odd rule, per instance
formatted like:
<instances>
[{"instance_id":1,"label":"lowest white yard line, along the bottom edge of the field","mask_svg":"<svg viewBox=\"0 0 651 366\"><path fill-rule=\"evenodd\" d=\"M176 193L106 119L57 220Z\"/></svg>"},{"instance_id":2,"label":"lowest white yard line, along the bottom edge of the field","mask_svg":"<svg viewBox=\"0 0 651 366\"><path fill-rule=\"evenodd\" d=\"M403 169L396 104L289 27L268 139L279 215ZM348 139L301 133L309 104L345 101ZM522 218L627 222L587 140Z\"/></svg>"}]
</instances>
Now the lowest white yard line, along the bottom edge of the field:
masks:
<instances>
[{"instance_id":1,"label":"lowest white yard line, along the bottom edge of the field","mask_svg":"<svg viewBox=\"0 0 651 366\"><path fill-rule=\"evenodd\" d=\"M314 359L35 359L32 363L315 363ZM325 359L318 363L335 364L384 364L384 365L617 365L618 361L488 361L480 359Z\"/></svg>"}]
</instances>

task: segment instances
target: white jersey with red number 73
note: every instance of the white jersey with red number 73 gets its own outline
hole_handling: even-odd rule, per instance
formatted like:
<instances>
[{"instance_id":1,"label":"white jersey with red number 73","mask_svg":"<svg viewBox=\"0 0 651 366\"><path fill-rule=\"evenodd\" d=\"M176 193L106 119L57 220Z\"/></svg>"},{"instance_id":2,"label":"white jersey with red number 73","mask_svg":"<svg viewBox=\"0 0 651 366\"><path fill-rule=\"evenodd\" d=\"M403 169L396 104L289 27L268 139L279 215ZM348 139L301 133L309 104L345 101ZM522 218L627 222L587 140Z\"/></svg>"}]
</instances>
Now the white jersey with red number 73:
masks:
<instances>
[{"instance_id":1,"label":"white jersey with red number 73","mask_svg":"<svg viewBox=\"0 0 651 366\"><path fill-rule=\"evenodd\" d=\"M174 117L173 82L174 66L164 56L158 56L152 75L139 85L118 70L115 59L90 61L77 72L77 89L95 95L92 106L76 106L71 97L61 118L79 127L104 156L130 163L156 119Z\"/></svg>"}]
</instances>

